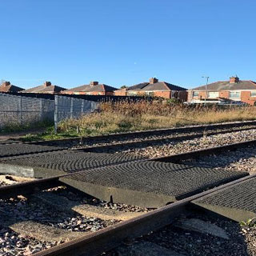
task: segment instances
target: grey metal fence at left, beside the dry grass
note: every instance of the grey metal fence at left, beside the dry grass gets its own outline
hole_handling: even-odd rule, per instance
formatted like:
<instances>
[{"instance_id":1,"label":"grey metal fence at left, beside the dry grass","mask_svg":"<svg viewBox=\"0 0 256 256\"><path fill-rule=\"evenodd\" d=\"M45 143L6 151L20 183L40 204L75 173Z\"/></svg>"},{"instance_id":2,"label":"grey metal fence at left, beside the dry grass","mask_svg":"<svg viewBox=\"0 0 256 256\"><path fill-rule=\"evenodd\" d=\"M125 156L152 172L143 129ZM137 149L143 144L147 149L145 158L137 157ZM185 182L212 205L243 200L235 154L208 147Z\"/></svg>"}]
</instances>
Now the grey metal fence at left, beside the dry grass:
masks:
<instances>
[{"instance_id":1,"label":"grey metal fence at left, beside the dry grass","mask_svg":"<svg viewBox=\"0 0 256 256\"><path fill-rule=\"evenodd\" d=\"M0 128L49 120L57 130L58 122L78 118L96 110L97 106L97 102L58 95L46 99L0 94Z\"/></svg>"}]
</instances>

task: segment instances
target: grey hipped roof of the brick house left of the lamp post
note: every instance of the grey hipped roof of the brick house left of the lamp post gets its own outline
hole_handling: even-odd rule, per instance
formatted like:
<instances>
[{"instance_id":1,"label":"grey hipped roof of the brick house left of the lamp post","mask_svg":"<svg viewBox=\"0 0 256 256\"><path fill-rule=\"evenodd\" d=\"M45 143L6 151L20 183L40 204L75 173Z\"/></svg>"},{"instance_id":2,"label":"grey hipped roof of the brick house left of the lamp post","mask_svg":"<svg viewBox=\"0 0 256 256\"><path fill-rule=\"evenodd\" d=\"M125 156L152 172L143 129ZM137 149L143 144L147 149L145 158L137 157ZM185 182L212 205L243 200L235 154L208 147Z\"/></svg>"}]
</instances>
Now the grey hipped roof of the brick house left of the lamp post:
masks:
<instances>
[{"instance_id":1,"label":"grey hipped roof of the brick house left of the lamp post","mask_svg":"<svg viewBox=\"0 0 256 256\"><path fill-rule=\"evenodd\" d=\"M155 83L149 83L149 82L143 82L139 83L135 86L130 86L127 90L145 90L145 91L153 91L153 90L186 90L186 88L180 87L180 86L174 86L173 84L170 84L169 82L155 82Z\"/></svg>"}]
</instances>

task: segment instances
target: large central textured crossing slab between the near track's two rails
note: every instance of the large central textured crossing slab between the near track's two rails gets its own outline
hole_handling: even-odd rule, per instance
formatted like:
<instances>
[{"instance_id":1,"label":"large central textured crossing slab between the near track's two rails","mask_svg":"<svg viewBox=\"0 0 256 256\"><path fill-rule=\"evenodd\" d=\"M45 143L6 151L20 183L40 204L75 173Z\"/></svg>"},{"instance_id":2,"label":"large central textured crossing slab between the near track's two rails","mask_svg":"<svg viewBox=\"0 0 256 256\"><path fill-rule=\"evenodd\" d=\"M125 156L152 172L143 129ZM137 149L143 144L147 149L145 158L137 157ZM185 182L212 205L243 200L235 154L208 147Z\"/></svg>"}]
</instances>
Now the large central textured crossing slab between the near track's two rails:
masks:
<instances>
[{"instance_id":1,"label":"large central textured crossing slab between the near track's two rails","mask_svg":"<svg viewBox=\"0 0 256 256\"><path fill-rule=\"evenodd\" d=\"M154 208L245 175L247 173L144 161L86 170L60 180L102 200Z\"/></svg>"}]
</instances>

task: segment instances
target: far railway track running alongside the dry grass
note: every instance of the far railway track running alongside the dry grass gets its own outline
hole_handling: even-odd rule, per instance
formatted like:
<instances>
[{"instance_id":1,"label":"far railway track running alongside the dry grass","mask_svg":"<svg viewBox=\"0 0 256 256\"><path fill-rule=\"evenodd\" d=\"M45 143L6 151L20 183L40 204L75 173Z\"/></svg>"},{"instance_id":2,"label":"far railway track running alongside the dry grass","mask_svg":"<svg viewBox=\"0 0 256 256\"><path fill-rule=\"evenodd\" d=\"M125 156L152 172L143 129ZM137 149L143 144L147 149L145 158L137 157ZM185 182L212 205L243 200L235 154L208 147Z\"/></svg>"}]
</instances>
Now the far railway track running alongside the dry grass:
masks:
<instances>
[{"instance_id":1,"label":"far railway track running alongside the dry grass","mask_svg":"<svg viewBox=\"0 0 256 256\"><path fill-rule=\"evenodd\" d=\"M49 152L82 150L83 152L112 153L115 150L157 146L162 143L182 142L216 134L248 131L256 128L256 122L235 122L207 126L189 126L165 130L149 130L126 134L110 134L90 138L67 138L44 142L0 142L0 158L29 156ZM218 129L218 130L214 130Z\"/></svg>"}]
</instances>

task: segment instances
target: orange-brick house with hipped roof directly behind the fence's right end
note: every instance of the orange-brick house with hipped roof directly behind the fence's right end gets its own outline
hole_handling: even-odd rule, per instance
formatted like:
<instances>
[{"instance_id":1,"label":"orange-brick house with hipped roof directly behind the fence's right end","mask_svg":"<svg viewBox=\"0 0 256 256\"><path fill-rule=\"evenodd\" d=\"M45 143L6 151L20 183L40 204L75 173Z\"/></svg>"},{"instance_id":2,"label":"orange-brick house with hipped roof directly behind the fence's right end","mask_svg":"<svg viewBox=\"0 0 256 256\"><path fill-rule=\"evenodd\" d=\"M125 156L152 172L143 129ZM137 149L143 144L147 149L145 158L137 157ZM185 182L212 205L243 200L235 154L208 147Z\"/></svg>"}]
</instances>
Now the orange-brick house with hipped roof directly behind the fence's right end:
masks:
<instances>
[{"instance_id":1,"label":"orange-brick house with hipped roof directly behind the fence's right end","mask_svg":"<svg viewBox=\"0 0 256 256\"><path fill-rule=\"evenodd\" d=\"M78 86L69 90L65 90L62 94L86 94L86 95L114 95L114 88L105 84L98 84L96 81L90 82L89 85Z\"/></svg>"}]
</instances>

